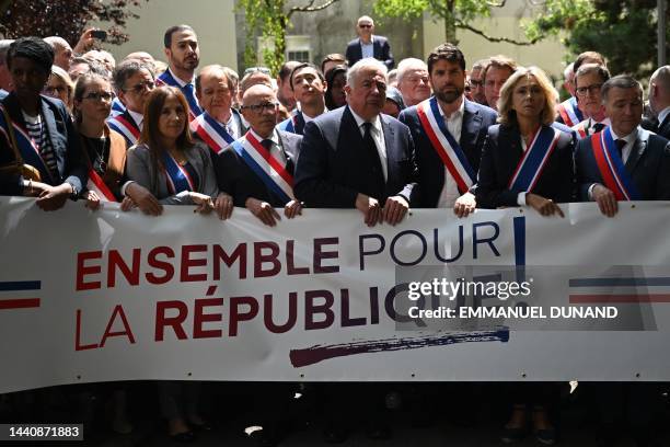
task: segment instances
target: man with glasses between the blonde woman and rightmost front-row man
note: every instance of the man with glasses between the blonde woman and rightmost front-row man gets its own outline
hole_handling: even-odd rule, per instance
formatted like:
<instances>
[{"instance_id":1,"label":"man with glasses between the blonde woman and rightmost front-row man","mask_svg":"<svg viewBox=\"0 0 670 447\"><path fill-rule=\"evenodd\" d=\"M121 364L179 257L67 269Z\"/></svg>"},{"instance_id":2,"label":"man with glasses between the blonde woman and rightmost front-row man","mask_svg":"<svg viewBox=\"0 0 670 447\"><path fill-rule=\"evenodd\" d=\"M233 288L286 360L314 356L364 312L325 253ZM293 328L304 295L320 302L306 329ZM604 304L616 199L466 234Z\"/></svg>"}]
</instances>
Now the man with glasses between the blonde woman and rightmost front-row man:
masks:
<instances>
[{"instance_id":1,"label":"man with glasses between the blonde woman and rightmost front-row man","mask_svg":"<svg viewBox=\"0 0 670 447\"><path fill-rule=\"evenodd\" d=\"M582 65L575 73L575 94L579 108L587 116L585 121L573 127L578 139L598 134L610 125L610 118L605 116L600 98L600 89L608 79L610 79L608 69L597 64Z\"/></svg>"}]
</instances>

